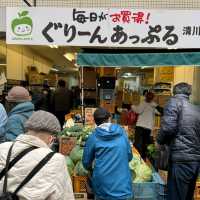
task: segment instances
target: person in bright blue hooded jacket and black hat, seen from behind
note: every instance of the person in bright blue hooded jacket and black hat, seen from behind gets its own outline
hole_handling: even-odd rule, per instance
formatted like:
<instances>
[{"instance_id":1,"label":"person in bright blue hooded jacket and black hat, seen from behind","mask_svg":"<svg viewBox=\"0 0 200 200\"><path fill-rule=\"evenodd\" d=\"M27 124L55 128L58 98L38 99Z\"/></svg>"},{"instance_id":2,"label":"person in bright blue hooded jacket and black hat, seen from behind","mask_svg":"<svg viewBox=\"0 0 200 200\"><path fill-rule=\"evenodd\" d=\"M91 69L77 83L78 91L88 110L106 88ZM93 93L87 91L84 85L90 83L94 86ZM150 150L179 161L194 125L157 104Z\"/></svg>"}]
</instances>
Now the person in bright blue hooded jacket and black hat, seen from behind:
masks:
<instances>
[{"instance_id":1,"label":"person in bright blue hooded jacket and black hat, seen from behind","mask_svg":"<svg viewBox=\"0 0 200 200\"><path fill-rule=\"evenodd\" d=\"M97 128L86 142L83 166L87 170L93 167L92 189L97 200L129 200L133 198L132 151L125 130L109 119L105 109L95 111Z\"/></svg>"}]
</instances>

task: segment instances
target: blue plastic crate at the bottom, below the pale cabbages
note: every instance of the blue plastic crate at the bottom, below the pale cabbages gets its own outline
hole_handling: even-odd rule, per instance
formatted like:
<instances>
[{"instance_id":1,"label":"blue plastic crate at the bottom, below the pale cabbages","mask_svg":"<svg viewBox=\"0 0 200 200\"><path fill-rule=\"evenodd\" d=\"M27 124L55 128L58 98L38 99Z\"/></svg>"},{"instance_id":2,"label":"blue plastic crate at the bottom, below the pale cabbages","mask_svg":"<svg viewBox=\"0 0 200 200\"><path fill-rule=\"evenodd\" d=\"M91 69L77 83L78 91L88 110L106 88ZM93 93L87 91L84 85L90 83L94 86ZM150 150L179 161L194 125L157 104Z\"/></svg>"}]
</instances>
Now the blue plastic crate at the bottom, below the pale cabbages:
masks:
<instances>
[{"instance_id":1,"label":"blue plastic crate at the bottom, below the pale cabbages","mask_svg":"<svg viewBox=\"0 0 200 200\"><path fill-rule=\"evenodd\" d=\"M152 182L133 183L135 200L165 200L166 185L158 173L153 173Z\"/></svg>"}]
</instances>

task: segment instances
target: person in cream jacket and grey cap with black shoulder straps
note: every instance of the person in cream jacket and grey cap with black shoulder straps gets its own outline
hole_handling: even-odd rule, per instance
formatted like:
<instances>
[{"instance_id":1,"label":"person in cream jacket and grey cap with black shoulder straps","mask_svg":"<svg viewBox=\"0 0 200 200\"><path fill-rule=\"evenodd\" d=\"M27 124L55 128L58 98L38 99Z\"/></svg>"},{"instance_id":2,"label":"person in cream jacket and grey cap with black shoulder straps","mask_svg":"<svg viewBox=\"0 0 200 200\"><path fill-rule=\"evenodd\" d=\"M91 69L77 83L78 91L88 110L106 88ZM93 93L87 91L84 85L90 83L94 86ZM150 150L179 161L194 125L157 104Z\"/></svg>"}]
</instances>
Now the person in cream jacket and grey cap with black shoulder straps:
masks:
<instances>
[{"instance_id":1,"label":"person in cream jacket and grey cap with black shoulder straps","mask_svg":"<svg viewBox=\"0 0 200 200\"><path fill-rule=\"evenodd\" d=\"M51 150L55 135L61 131L58 119L46 111L36 111L25 123L25 134L19 135L15 142L0 144L0 171L5 168L7 155L11 145L11 161L16 156L27 152L9 170L7 190L13 193L28 174L36 168L40 161L52 155L40 171L25 184L17 197L23 200L75 200L71 178L67 169L65 157ZM9 165L10 166L10 165ZM4 179L0 178L3 187ZM2 190L0 190L0 196Z\"/></svg>"}]
</instances>

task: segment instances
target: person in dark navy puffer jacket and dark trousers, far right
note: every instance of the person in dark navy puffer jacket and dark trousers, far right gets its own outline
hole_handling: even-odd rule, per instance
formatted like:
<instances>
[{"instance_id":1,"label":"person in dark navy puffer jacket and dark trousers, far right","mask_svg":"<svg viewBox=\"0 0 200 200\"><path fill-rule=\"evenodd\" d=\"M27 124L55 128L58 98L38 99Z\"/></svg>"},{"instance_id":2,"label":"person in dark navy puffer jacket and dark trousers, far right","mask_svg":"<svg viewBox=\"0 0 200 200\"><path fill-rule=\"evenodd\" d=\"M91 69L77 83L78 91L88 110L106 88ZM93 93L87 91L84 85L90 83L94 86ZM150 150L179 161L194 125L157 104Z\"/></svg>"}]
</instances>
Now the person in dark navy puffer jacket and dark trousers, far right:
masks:
<instances>
[{"instance_id":1,"label":"person in dark navy puffer jacket and dark trousers, far right","mask_svg":"<svg viewBox=\"0 0 200 200\"><path fill-rule=\"evenodd\" d=\"M179 83L164 109L158 144L170 148L168 200L192 200L200 169L200 109L189 102L191 85Z\"/></svg>"}]
</instances>

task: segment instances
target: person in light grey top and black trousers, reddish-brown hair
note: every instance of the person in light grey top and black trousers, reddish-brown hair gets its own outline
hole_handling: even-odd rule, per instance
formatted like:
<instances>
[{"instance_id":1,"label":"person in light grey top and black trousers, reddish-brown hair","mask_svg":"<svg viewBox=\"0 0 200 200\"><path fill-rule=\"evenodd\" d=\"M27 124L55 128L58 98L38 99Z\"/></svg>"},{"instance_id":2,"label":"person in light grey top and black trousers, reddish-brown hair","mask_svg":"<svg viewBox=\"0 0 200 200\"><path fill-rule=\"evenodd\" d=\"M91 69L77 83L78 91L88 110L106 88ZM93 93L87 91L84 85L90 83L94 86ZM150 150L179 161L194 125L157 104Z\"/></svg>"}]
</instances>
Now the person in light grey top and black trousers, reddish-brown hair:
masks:
<instances>
[{"instance_id":1,"label":"person in light grey top and black trousers, reddish-brown hair","mask_svg":"<svg viewBox=\"0 0 200 200\"><path fill-rule=\"evenodd\" d=\"M160 114L159 111L162 110L153 100L154 94L147 92L145 100L139 106L132 105L132 110L138 114L134 146L144 160L147 156L147 146L152 143L151 131L154 128L155 114Z\"/></svg>"}]
</instances>

